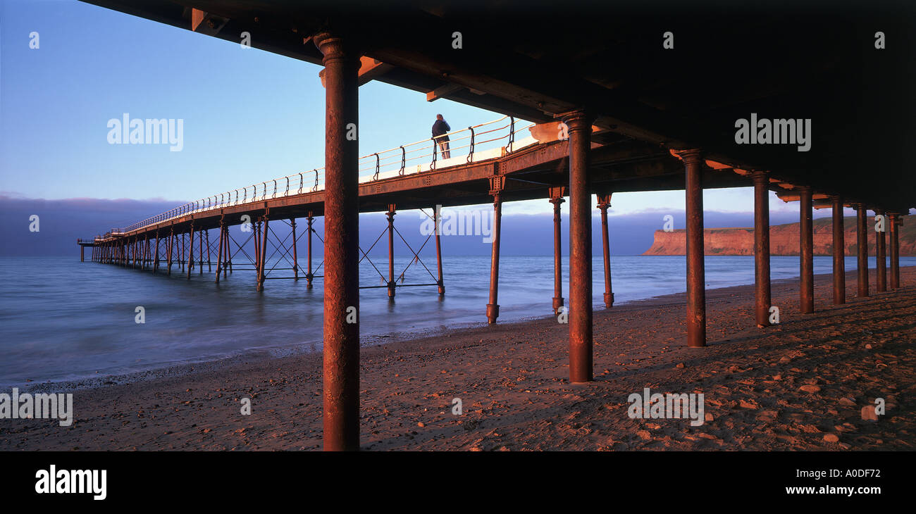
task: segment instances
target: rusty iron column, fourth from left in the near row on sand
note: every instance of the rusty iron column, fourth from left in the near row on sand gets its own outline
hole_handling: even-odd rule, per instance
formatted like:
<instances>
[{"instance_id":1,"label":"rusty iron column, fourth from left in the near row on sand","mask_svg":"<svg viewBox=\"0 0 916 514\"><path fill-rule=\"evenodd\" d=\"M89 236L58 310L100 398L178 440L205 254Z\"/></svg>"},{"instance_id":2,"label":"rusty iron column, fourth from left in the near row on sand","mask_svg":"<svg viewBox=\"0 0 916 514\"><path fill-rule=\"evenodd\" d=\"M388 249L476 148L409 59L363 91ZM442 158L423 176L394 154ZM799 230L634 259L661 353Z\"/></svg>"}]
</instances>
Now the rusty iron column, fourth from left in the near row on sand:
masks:
<instances>
[{"instance_id":1,"label":"rusty iron column, fourth from left in the near row on sand","mask_svg":"<svg viewBox=\"0 0 916 514\"><path fill-rule=\"evenodd\" d=\"M754 318L769 327L769 172L751 173L754 182Z\"/></svg>"}]
</instances>

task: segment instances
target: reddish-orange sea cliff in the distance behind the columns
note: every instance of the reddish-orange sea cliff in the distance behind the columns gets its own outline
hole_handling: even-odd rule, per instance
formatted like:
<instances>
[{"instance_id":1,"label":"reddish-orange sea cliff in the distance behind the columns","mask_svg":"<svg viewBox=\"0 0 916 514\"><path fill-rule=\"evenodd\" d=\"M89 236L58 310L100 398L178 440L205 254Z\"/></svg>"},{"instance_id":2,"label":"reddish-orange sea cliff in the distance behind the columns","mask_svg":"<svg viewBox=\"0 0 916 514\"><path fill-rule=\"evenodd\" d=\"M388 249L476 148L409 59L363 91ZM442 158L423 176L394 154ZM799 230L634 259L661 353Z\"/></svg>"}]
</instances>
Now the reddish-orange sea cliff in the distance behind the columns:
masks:
<instances>
[{"instance_id":1,"label":"reddish-orange sea cliff in the distance behind the columns","mask_svg":"<svg viewBox=\"0 0 916 514\"><path fill-rule=\"evenodd\" d=\"M831 219L813 221L814 254L830 255L833 252ZM856 218L844 219L846 255L856 255ZM904 216L900 228L900 255L916 255L916 216ZM889 241L889 234L886 236ZM703 249L706 255L753 255L754 229L703 230ZM655 231L655 241L643 255L684 255L686 253L684 230ZM799 254L799 224L787 223L769 228L771 255ZM875 254L875 221L868 218L868 254Z\"/></svg>"}]
</instances>

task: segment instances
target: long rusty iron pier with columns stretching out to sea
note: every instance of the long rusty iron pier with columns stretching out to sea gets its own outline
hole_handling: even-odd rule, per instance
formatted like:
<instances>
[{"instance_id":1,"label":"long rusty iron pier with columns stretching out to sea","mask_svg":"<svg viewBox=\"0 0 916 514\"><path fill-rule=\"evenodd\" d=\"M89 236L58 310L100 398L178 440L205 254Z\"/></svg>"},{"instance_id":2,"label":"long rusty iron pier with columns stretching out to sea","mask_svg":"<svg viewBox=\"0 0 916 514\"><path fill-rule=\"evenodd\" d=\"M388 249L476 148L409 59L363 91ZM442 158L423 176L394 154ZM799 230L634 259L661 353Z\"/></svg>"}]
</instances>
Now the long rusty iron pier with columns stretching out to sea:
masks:
<instances>
[{"instance_id":1,"label":"long rusty iron pier with columns stretching out to sea","mask_svg":"<svg viewBox=\"0 0 916 514\"><path fill-rule=\"evenodd\" d=\"M900 157L897 136L886 137L878 131L859 133L849 129L850 123L844 120L855 115L856 126L886 127L894 126L898 116L883 103L892 95L876 91L870 83L848 80L849 68L886 78L882 87L901 91L900 98L911 95L913 84L909 76L895 75L896 70L903 69L900 60L895 60L903 59L900 52L889 52L888 59L870 59L865 50L857 48L868 48L871 42L867 38L856 39L857 34L837 28L837 33L831 33L834 38L823 41L821 33L805 35L803 30L807 27L802 16L791 22L797 24L793 27L801 35L792 37L791 42L768 40L772 55L750 52L755 58L749 59L740 53L746 48L730 47L739 47L735 41L753 39L764 28L772 27L734 22L717 25L714 16L702 21L703 26L715 30L702 34L682 30L683 50L665 54L662 30L644 12L618 13L621 16L615 18L580 13L554 20L508 16L493 7L488 16L472 21L448 9L403 7L387 23L379 24L368 13L346 13L323 3L258 9L246 2L201 3L207 5L205 8L152 0L139 4L116 0L90 3L235 44L241 32L248 32L256 48L324 67L324 166L278 178L252 177L249 186L215 192L209 198L78 242L81 257L85 248L91 248L93 262L149 273L184 273L191 279L195 268L201 272L206 265L215 270L214 280L218 282L221 274L225 277L226 273L250 269L255 272L253 291L267 287L267 279L281 278L276 273L271 276L278 270L267 268L272 253L291 256L292 276L285 278L304 279L306 287L321 279L323 437L327 450L359 447L359 288L368 287L358 281L359 262L367 258L359 247L361 212L387 213L387 229L379 235L381 238L387 233L387 276L379 272L386 284L372 287L386 289L388 297L407 285L431 289L435 286L431 294L446 294L448 284L443 278L438 231L431 235L437 254L435 280L425 284L397 283L392 248L398 234L398 210L436 212L436 206L492 203L490 295L481 309L488 322L494 324L499 316L502 205L538 198L551 202L556 256L552 299L555 309L568 303L572 382L594 378L591 230L595 214L602 220L605 306L613 308L608 233L614 227L608 224L606 211L614 193L685 193L684 343L691 348L706 347L708 337L703 269L704 189L754 187L754 312L758 327L769 326L771 306L770 192L800 205L802 314L812 314L818 308L812 266L811 223L815 208L833 209L834 227L836 223L840 227L839 231L834 229L834 238L838 238L834 239L834 304L845 303L844 207L852 207L858 213L858 294L867 296L869 292L867 230L880 228L875 249L879 262L877 290L900 286L900 216L916 205L912 157ZM558 24L565 24L562 44L558 44L557 37L544 37L556 35ZM500 37L505 36L506 27L519 26L525 27L528 35L519 36L518 44L505 52L494 51L502 47ZM456 27L461 28L460 49L453 47ZM791 32L789 28L785 30ZM594 37L602 34L609 36ZM640 50L638 54L643 59L620 57L633 48L642 48L641 44L654 49ZM805 50L794 51L798 47L793 45ZM834 59L837 45L860 57L838 64ZM582 48L589 51L578 51ZM712 78L717 67L725 63L736 63L747 75L742 80ZM768 70L767 76L748 79L756 77L758 69ZM800 75L800 70L806 74ZM742 73L732 75L741 77ZM428 101L449 98L504 117L450 133L453 148L448 159L438 154L433 139L366 153L360 148L356 123L358 89L369 80L423 91ZM849 98L861 98L861 108L852 114L837 112L838 106ZM813 120L806 134L808 151L800 152L796 145L736 145L736 119L767 112L774 103L780 112ZM863 174L875 179L868 180ZM597 200L597 213L593 199ZM561 295L560 273L563 201L570 206L565 227L570 234L566 299ZM871 220L867 211L880 219ZM324 220L323 234L312 229L318 217ZM271 227L278 223L289 225L291 241L272 238ZM250 238L257 249L254 255L246 254L242 250L245 241L237 241L228 230L241 224L251 227ZM885 232L889 233L887 243ZM545 238L550 236L545 234ZM299 252L303 238L305 259ZM313 266L312 245L318 242L322 242L324 259ZM890 258L889 272L884 265L886 256ZM550 284L545 284L544 294L551 294ZM355 322L353 312L357 313Z\"/></svg>"}]
</instances>

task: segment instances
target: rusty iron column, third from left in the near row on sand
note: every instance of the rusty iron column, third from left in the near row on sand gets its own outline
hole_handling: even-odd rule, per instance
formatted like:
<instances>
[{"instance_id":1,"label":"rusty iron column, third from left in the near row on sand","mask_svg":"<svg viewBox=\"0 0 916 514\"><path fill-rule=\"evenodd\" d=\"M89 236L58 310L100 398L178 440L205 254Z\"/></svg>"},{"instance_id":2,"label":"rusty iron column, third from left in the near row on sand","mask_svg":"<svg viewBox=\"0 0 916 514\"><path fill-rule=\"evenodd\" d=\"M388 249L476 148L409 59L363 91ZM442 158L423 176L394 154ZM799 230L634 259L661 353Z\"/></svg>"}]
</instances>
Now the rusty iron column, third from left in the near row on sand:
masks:
<instances>
[{"instance_id":1,"label":"rusty iron column, third from left in the near row on sand","mask_svg":"<svg viewBox=\"0 0 916 514\"><path fill-rule=\"evenodd\" d=\"M706 273L703 262L703 157L684 150L687 196L687 346L706 346Z\"/></svg>"}]
</instances>

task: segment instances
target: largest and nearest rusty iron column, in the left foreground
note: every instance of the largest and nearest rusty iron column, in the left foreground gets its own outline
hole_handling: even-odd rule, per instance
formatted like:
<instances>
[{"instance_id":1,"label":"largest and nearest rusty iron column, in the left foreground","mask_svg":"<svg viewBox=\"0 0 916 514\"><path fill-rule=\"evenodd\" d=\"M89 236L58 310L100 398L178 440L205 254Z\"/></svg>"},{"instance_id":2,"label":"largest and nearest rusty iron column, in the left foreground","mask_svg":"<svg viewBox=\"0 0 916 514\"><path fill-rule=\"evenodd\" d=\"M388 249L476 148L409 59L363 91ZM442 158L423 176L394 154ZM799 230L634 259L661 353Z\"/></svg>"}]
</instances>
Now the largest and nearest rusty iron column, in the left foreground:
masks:
<instances>
[{"instance_id":1,"label":"largest and nearest rusty iron column, in the left foreground","mask_svg":"<svg viewBox=\"0 0 916 514\"><path fill-rule=\"evenodd\" d=\"M322 51L324 145L324 449L359 449L360 55L340 34L313 37Z\"/></svg>"}]
</instances>

